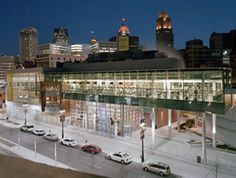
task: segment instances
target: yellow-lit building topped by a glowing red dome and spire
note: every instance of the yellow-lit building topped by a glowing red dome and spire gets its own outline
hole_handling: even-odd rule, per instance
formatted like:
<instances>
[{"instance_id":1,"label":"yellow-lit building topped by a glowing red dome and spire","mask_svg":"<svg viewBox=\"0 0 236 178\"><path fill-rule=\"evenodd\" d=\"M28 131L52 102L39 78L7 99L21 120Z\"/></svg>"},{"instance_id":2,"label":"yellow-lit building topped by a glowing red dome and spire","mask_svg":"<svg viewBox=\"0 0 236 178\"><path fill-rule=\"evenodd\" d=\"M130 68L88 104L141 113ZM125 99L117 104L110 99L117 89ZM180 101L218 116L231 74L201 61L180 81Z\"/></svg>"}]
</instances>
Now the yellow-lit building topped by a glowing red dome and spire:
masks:
<instances>
[{"instance_id":1,"label":"yellow-lit building topped by a glowing red dome and spire","mask_svg":"<svg viewBox=\"0 0 236 178\"><path fill-rule=\"evenodd\" d=\"M116 36L109 39L111 42L117 43L117 51L135 51L139 50L139 37L130 36L128 26L125 24L125 19L122 19L122 26Z\"/></svg>"}]
</instances>

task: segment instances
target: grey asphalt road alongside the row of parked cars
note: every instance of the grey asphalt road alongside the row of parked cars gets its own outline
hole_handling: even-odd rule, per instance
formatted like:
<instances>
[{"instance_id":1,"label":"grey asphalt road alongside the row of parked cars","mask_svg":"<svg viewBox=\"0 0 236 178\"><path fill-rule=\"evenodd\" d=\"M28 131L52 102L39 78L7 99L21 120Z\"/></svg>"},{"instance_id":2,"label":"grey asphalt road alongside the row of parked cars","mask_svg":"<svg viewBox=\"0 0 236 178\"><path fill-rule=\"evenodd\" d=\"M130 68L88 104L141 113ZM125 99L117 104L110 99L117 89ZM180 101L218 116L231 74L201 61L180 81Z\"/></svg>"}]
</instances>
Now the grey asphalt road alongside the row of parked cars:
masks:
<instances>
[{"instance_id":1,"label":"grey asphalt road alongside the row of parked cars","mask_svg":"<svg viewBox=\"0 0 236 178\"><path fill-rule=\"evenodd\" d=\"M8 128L0 125L0 137L18 143L18 134L20 135L21 145L34 151L36 139L37 153L54 159L55 143L42 139L31 133L19 131L19 129ZM130 164L121 164L105 158L105 153L93 155L83 152L80 146L68 147L56 142L57 161L70 166L73 169L114 178L152 178L160 177L159 175L145 172L141 164L131 162ZM166 177L179 177L174 174Z\"/></svg>"}]
</instances>

